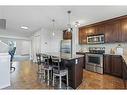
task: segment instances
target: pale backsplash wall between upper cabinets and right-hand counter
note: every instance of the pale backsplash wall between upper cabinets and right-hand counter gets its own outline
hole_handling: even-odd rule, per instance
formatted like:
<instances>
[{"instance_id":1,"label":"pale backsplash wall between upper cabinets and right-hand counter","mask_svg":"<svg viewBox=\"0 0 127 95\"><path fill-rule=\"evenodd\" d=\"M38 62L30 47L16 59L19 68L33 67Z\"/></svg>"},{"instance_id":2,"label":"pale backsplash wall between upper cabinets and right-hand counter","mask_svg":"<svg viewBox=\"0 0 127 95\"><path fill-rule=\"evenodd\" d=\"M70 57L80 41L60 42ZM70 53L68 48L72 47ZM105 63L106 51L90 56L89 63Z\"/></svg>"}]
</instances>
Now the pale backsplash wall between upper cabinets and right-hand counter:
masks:
<instances>
[{"instance_id":1,"label":"pale backsplash wall between upper cabinets and right-hand counter","mask_svg":"<svg viewBox=\"0 0 127 95\"><path fill-rule=\"evenodd\" d=\"M105 47L105 53L111 54L111 50L114 50L114 52L116 53L116 48L118 47L119 44L123 48L124 54L127 54L127 43L79 45L77 51L87 52L89 50L89 47Z\"/></svg>"}]
</instances>

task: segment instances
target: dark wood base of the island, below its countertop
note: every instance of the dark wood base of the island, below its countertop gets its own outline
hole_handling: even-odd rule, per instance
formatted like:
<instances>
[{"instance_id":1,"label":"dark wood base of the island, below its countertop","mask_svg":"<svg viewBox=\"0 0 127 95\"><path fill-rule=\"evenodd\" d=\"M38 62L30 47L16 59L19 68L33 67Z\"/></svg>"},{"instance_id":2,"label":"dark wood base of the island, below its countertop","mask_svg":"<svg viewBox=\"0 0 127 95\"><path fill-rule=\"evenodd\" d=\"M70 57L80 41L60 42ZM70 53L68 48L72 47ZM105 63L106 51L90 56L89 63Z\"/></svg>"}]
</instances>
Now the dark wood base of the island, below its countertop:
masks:
<instances>
[{"instance_id":1,"label":"dark wood base of the island, below its countertop","mask_svg":"<svg viewBox=\"0 0 127 95\"><path fill-rule=\"evenodd\" d=\"M83 80L83 61L83 57L71 60L62 59L62 63L68 68L69 86L74 89L76 89Z\"/></svg>"}]
</instances>

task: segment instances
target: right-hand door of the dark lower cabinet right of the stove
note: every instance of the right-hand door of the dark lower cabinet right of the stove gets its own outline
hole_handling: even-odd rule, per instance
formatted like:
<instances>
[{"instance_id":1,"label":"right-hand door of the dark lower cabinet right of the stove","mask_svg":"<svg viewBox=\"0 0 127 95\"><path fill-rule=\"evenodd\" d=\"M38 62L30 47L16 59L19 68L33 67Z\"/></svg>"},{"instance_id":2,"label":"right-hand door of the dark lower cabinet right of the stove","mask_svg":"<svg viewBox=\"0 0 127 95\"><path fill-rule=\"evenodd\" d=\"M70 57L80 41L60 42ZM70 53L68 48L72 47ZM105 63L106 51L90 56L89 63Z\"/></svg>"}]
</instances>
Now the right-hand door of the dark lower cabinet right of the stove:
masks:
<instances>
[{"instance_id":1,"label":"right-hand door of the dark lower cabinet right of the stove","mask_svg":"<svg viewBox=\"0 0 127 95\"><path fill-rule=\"evenodd\" d=\"M111 57L111 74L122 77L122 58L118 55Z\"/></svg>"}]
</instances>

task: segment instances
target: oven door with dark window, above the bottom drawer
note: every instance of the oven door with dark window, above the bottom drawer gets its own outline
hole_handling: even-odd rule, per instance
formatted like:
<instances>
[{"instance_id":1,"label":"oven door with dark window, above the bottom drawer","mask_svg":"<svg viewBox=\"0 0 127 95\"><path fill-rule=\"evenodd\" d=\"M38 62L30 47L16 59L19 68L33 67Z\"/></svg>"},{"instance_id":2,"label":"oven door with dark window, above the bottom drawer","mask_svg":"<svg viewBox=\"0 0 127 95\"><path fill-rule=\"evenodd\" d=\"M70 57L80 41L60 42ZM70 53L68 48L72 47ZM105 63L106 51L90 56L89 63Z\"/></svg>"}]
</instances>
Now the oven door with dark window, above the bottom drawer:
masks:
<instances>
[{"instance_id":1,"label":"oven door with dark window, above the bottom drawer","mask_svg":"<svg viewBox=\"0 0 127 95\"><path fill-rule=\"evenodd\" d=\"M103 67L102 54L86 54L86 64Z\"/></svg>"}]
</instances>

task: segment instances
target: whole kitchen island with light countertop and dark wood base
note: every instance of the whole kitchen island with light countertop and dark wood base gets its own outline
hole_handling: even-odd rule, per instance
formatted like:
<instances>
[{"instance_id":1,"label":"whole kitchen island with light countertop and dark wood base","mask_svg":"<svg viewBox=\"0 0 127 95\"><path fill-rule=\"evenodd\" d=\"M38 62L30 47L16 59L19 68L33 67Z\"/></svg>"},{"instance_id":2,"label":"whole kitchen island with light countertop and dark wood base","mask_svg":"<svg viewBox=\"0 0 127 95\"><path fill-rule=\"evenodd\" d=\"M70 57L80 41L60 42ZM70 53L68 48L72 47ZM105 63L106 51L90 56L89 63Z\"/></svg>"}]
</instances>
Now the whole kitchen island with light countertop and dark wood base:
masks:
<instances>
[{"instance_id":1,"label":"whole kitchen island with light countertop and dark wood base","mask_svg":"<svg viewBox=\"0 0 127 95\"><path fill-rule=\"evenodd\" d=\"M61 59L61 63L68 68L69 86L76 89L83 80L84 56L77 54L67 54L61 52L47 52L49 56L56 56Z\"/></svg>"}]
</instances>

